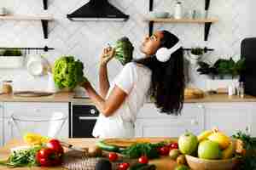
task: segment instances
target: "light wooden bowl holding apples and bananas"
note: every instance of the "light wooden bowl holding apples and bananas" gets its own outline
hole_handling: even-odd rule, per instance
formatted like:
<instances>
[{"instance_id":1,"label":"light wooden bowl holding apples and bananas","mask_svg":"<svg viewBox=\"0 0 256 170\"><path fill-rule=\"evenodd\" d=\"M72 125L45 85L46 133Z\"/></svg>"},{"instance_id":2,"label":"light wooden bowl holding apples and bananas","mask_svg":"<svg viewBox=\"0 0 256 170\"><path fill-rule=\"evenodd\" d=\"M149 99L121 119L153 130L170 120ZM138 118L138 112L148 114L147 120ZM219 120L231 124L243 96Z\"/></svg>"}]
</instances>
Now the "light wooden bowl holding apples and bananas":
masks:
<instances>
[{"instance_id":1,"label":"light wooden bowl holding apples and bananas","mask_svg":"<svg viewBox=\"0 0 256 170\"><path fill-rule=\"evenodd\" d=\"M226 160L205 160L194 156L186 155L186 161L193 170L231 170L237 165L236 157Z\"/></svg>"}]
</instances>

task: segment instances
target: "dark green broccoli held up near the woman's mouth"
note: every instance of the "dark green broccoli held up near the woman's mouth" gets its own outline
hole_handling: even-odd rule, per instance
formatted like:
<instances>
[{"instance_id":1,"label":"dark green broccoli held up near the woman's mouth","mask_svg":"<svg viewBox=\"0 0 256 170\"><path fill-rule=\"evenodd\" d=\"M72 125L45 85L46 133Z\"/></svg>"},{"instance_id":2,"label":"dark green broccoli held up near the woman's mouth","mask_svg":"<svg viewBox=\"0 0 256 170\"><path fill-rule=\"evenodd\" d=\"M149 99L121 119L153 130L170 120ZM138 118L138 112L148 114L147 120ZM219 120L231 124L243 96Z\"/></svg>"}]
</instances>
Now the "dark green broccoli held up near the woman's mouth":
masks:
<instances>
[{"instance_id":1,"label":"dark green broccoli held up near the woman's mouth","mask_svg":"<svg viewBox=\"0 0 256 170\"><path fill-rule=\"evenodd\" d=\"M118 59L122 65L131 62L134 48L128 37L121 37L115 43L114 49L114 57Z\"/></svg>"}]
</instances>

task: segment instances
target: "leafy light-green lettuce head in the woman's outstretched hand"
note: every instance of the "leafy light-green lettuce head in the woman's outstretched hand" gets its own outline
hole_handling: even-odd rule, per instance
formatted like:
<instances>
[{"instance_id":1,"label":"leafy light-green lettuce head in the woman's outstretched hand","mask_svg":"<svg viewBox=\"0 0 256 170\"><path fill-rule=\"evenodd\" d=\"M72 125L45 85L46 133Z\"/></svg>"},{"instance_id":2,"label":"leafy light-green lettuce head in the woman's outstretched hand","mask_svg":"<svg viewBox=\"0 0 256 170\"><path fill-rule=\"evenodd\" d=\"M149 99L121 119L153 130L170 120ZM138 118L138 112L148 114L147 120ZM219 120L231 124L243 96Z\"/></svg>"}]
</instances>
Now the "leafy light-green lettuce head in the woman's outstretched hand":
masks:
<instances>
[{"instance_id":1,"label":"leafy light-green lettuce head in the woman's outstretched hand","mask_svg":"<svg viewBox=\"0 0 256 170\"><path fill-rule=\"evenodd\" d=\"M58 88L75 88L80 82L86 80L84 77L84 64L75 60L73 56L62 56L55 61L54 80Z\"/></svg>"}]
</instances>

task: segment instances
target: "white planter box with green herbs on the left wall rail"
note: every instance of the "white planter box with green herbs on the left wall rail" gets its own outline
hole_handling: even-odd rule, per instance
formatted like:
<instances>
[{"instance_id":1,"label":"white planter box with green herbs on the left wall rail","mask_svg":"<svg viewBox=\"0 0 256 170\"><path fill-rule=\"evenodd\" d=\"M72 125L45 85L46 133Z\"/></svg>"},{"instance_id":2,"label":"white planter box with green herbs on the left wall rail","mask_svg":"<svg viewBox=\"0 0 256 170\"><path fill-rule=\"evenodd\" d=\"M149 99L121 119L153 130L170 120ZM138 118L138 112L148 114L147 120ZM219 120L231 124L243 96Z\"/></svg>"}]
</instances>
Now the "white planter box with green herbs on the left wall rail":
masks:
<instances>
[{"instance_id":1,"label":"white planter box with green herbs on the left wall rail","mask_svg":"<svg viewBox=\"0 0 256 170\"><path fill-rule=\"evenodd\" d=\"M23 62L20 49L4 49L0 52L0 68L20 68Z\"/></svg>"}]
</instances>

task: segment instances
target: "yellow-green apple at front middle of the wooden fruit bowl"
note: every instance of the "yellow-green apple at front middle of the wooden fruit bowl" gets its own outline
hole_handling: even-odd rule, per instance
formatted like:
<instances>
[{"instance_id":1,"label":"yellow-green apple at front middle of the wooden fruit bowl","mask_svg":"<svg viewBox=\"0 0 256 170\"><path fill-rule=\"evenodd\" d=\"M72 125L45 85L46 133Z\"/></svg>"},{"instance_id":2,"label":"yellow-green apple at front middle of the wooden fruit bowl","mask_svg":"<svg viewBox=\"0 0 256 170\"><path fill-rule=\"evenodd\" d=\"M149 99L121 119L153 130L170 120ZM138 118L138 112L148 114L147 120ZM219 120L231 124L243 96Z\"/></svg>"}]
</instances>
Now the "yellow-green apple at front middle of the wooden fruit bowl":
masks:
<instances>
[{"instance_id":1,"label":"yellow-green apple at front middle of the wooden fruit bowl","mask_svg":"<svg viewBox=\"0 0 256 170\"><path fill-rule=\"evenodd\" d=\"M217 160L221 157L221 150L217 142L204 140L198 146L198 156L201 159Z\"/></svg>"}]
</instances>

